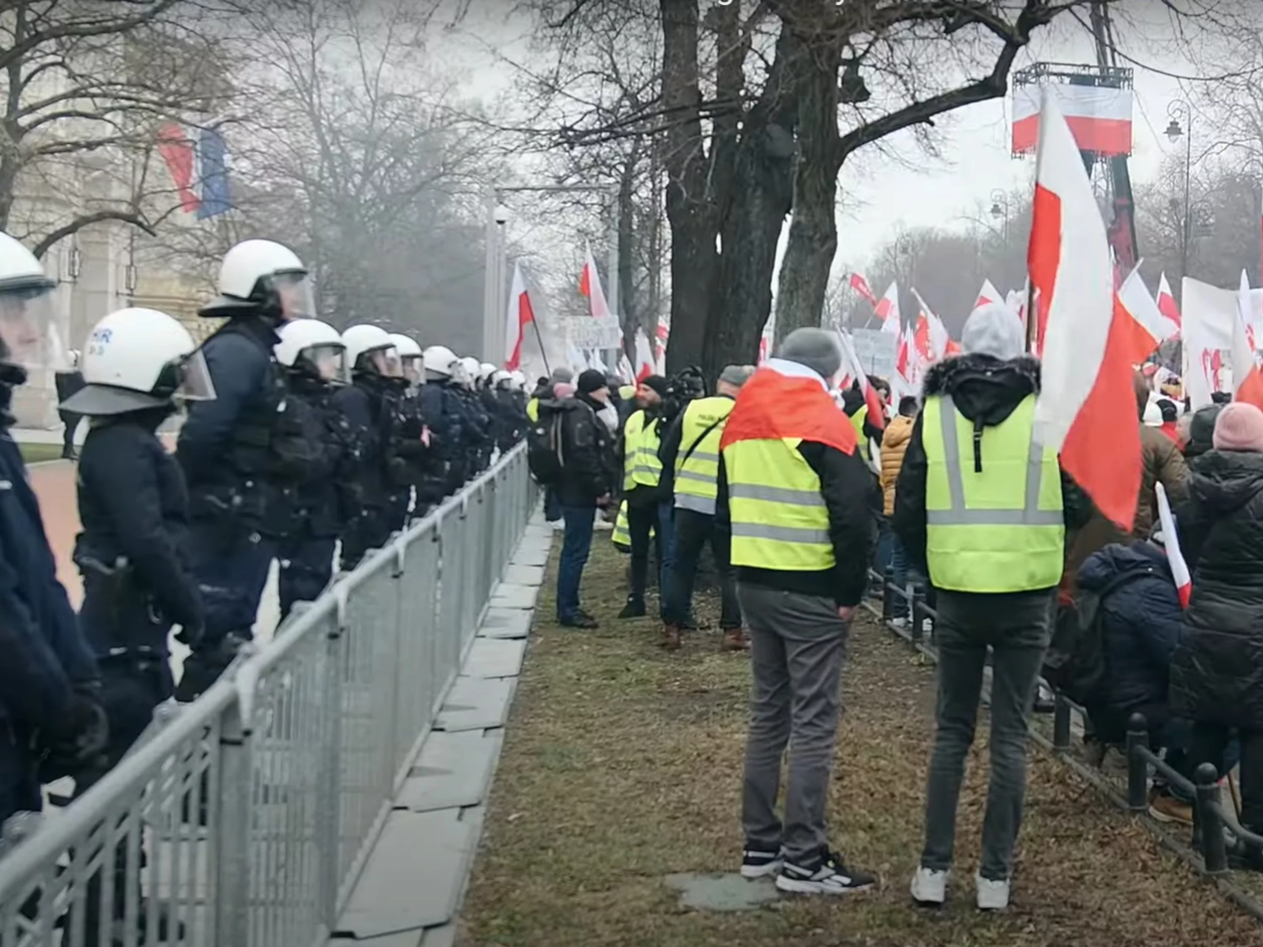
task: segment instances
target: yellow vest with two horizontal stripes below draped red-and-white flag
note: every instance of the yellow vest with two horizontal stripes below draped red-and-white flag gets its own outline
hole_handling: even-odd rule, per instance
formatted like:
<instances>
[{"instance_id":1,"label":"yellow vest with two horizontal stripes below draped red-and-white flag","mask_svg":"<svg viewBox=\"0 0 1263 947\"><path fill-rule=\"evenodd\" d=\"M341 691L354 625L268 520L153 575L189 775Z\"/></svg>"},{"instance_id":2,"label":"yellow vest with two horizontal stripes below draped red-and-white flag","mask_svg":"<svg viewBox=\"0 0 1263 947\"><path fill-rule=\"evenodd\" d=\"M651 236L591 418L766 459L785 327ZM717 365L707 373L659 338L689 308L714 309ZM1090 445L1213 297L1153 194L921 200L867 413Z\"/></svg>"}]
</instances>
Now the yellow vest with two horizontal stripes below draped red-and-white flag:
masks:
<instances>
[{"instance_id":1,"label":"yellow vest with two horizontal stripes below draped red-and-white flag","mask_svg":"<svg viewBox=\"0 0 1263 947\"><path fill-rule=\"evenodd\" d=\"M836 563L820 477L799 443L787 437L724 448L734 566L822 572Z\"/></svg>"}]
</instances>

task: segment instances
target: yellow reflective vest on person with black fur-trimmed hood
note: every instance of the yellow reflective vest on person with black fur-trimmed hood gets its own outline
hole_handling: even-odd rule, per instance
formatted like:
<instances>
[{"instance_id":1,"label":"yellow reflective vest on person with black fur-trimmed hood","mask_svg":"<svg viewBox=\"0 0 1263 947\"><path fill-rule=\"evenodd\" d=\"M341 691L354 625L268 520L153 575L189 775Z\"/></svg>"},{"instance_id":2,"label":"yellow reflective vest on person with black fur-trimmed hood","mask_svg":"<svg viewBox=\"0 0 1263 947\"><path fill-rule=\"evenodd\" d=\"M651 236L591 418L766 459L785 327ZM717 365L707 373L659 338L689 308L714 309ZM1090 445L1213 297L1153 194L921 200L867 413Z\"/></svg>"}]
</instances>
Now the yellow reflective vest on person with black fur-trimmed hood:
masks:
<instances>
[{"instance_id":1,"label":"yellow reflective vest on person with black fur-trimmed hood","mask_svg":"<svg viewBox=\"0 0 1263 947\"><path fill-rule=\"evenodd\" d=\"M1034 400L978 433L950 396L926 400L926 558L936 588L1029 592L1061 581L1061 470L1057 452L1034 442Z\"/></svg>"}]
</instances>

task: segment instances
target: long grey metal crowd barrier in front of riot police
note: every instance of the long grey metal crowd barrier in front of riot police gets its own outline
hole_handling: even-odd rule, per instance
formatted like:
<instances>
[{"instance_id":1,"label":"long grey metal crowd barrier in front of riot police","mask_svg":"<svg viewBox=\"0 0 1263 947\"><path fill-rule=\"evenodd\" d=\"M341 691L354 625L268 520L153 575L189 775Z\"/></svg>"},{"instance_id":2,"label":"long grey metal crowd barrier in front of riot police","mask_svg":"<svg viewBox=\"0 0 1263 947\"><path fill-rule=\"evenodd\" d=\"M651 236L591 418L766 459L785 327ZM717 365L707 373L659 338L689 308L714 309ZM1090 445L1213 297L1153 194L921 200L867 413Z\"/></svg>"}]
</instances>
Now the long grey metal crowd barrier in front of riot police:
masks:
<instances>
[{"instance_id":1,"label":"long grey metal crowd barrier in front of riot police","mask_svg":"<svg viewBox=\"0 0 1263 947\"><path fill-rule=\"evenodd\" d=\"M0 857L0 947L322 944L537 505L518 446Z\"/></svg>"}]
</instances>

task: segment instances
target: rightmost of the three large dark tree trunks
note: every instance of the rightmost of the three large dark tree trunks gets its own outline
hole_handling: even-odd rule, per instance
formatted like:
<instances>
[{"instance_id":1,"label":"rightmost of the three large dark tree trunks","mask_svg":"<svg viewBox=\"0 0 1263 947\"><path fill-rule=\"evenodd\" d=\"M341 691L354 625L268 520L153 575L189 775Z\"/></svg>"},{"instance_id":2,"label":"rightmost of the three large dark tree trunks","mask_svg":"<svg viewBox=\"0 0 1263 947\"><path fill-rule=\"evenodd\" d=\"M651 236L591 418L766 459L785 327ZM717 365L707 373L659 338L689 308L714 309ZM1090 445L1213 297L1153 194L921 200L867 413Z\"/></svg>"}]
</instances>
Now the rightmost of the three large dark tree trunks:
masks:
<instances>
[{"instance_id":1,"label":"rightmost of the three large dark tree trunks","mask_svg":"<svg viewBox=\"0 0 1263 947\"><path fill-rule=\"evenodd\" d=\"M787 23L782 29L789 30ZM777 342L803 326L818 326L837 253L835 198L841 148L837 134L837 71L841 52L822 39L797 57L798 159L793 217L777 285Z\"/></svg>"}]
</instances>

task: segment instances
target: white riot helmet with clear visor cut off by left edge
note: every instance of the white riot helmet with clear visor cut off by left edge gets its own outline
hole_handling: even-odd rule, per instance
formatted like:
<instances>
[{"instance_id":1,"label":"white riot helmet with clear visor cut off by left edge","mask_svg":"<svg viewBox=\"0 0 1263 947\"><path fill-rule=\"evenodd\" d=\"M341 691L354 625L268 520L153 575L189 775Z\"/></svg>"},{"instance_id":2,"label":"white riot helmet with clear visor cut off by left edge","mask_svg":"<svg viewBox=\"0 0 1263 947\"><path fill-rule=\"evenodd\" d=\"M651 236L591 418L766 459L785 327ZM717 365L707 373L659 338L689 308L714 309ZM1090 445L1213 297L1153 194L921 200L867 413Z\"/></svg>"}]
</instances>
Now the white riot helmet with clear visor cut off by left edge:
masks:
<instances>
[{"instance_id":1,"label":"white riot helmet with clear visor cut off by left edge","mask_svg":"<svg viewBox=\"0 0 1263 947\"><path fill-rule=\"evenodd\" d=\"M0 384L20 385L37 366L69 366L53 321L56 288L30 250L0 234Z\"/></svg>"}]
</instances>

